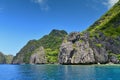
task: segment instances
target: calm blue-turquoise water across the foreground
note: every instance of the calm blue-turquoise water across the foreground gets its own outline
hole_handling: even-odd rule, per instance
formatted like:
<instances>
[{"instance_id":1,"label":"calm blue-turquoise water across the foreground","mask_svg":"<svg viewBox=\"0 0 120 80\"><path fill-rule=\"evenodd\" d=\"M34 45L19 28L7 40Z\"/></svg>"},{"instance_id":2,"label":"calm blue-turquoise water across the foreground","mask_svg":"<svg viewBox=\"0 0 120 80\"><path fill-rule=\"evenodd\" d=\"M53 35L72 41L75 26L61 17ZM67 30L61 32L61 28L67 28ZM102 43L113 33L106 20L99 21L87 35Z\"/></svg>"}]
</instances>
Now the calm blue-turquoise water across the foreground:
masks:
<instances>
[{"instance_id":1,"label":"calm blue-turquoise water across the foreground","mask_svg":"<svg viewBox=\"0 0 120 80\"><path fill-rule=\"evenodd\" d=\"M119 76L119 65L0 65L0 80L120 80Z\"/></svg>"}]
</instances>

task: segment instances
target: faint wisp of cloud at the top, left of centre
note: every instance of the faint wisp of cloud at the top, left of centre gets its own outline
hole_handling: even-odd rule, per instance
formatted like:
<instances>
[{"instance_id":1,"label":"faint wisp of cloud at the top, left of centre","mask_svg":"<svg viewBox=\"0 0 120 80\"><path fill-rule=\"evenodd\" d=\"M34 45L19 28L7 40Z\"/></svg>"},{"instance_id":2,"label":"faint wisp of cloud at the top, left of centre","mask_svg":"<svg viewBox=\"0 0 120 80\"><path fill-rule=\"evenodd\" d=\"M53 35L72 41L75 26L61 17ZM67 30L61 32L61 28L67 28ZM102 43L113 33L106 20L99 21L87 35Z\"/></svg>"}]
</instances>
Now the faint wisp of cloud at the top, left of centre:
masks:
<instances>
[{"instance_id":1,"label":"faint wisp of cloud at the top, left of centre","mask_svg":"<svg viewBox=\"0 0 120 80\"><path fill-rule=\"evenodd\" d=\"M32 0L34 3L39 4L41 10L48 11L49 6L47 4L47 0Z\"/></svg>"}]
</instances>

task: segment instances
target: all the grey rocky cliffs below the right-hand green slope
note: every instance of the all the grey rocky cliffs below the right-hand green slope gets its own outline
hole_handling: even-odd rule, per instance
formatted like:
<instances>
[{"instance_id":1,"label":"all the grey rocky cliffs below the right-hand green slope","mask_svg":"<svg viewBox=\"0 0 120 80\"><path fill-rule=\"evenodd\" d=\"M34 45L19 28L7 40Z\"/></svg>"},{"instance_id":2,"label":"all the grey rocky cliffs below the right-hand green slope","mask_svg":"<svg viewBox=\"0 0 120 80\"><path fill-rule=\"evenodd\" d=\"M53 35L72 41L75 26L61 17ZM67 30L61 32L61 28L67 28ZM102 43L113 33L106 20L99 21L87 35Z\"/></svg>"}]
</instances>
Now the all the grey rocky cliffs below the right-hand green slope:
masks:
<instances>
[{"instance_id":1,"label":"all the grey rocky cliffs below the right-hand green slope","mask_svg":"<svg viewBox=\"0 0 120 80\"><path fill-rule=\"evenodd\" d=\"M60 47L60 64L94 64L119 63L116 52L120 53L120 45L110 44L109 38L99 33L99 38L90 37L89 33L71 33ZM104 39L104 40L103 40ZM113 40L116 41L115 39ZM109 44L109 46L108 46ZM109 52L112 50L112 54ZM117 51L116 51L117 50Z\"/></svg>"}]
</instances>

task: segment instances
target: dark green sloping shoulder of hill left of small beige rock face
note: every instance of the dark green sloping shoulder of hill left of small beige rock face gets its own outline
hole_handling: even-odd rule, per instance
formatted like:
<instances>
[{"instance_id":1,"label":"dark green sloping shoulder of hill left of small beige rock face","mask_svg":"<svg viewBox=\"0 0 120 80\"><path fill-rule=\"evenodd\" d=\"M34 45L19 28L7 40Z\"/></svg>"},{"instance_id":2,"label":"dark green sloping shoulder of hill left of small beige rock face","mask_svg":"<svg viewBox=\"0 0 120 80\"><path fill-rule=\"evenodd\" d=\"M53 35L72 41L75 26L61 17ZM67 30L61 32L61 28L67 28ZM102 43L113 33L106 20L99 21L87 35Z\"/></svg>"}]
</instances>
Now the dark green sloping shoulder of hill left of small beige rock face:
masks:
<instances>
[{"instance_id":1,"label":"dark green sloping shoulder of hill left of small beige rock face","mask_svg":"<svg viewBox=\"0 0 120 80\"><path fill-rule=\"evenodd\" d=\"M39 43L37 40L30 40L21 50L20 52L14 57L14 60L20 60L20 62L29 63L29 59L31 54L34 52L36 48L39 47ZM23 59L21 59L21 57Z\"/></svg>"}]
</instances>

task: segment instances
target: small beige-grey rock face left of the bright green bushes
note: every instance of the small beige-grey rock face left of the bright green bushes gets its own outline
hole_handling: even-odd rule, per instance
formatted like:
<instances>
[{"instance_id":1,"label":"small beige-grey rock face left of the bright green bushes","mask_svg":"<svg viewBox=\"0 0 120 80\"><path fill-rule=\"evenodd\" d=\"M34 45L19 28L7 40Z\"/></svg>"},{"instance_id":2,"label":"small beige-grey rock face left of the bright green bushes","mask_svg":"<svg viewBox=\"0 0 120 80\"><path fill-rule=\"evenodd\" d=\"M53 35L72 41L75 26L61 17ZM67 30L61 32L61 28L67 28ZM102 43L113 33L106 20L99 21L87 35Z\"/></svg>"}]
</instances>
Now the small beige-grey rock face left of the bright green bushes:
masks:
<instances>
[{"instance_id":1,"label":"small beige-grey rock face left of the bright green bushes","mask_svg":"<svg viewBox=\"0 0 120 80\"><path fill-rule=\"evenodd\" d=\"M34 54L30 57L30 64L44 64L46 63L45 51L43 47L35 50Z\"/></svg>"}]
</instances>

